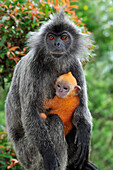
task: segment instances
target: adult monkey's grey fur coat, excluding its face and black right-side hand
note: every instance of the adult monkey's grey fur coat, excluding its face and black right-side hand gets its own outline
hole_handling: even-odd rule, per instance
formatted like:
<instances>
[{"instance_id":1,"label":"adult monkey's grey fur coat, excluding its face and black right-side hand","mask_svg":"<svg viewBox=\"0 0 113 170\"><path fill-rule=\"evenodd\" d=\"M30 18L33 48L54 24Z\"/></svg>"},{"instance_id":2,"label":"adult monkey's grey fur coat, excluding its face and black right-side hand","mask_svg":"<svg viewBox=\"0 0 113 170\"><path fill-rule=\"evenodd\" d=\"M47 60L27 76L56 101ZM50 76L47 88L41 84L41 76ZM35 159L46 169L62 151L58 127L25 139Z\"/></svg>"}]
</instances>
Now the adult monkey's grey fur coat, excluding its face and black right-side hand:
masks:
<instances>
[{"instance_id":1,"label":"adult monkey's grey fur coat, excluding its face and black right-side hand","mask_svg":"<svg viewBox=\"0 0 113 170\"><path fill-rule=\"evenodd\" d=\"M46 47L45 36L48 31L59 24L64 25L68 31L70 30L72 46L66 51L66 56L55 58L50 55ZM73 35L76 36L73 37ZM74 23L60 13L52 16L38 32L31 35L28 46L29 53L15 67L6 100L8 136L18 159L26 169L43 170L44 156L48 152L50 163L57 162L58 158L60 164L58 170L65 170L66 165L68 162L72 163L73 158L67 161L67 143L62 122L56 115L48 117L44 122L40 118L40 113L45 112L42 107L43 99L53 97L56 77L71 71L82 89L80 94L82 105L75 111L73 124L82 118L86 121L86 125L92 127L92 117L87 104L86 82L80 64L80 59L88 52L85 38Z\"/></svg>"}]
</instances>

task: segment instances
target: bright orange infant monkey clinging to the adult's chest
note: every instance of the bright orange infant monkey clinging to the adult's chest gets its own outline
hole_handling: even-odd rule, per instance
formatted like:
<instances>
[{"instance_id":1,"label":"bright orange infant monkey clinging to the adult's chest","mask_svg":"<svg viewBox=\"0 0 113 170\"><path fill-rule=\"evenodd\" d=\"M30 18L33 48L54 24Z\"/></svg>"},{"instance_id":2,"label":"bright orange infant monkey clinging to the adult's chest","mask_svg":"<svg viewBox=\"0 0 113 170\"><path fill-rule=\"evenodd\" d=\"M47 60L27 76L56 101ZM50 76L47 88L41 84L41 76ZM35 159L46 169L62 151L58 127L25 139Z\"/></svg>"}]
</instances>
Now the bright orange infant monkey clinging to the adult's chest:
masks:
<instances>
[{"instance_id":1,"label":"bright orange infant monkey clinging to the adult's chest","mask_svg":"<svg viewBox=\"0 0 113 170\"><path fill-rule=\"evenodd\" d=\"M80 86L71 72L63 74L57 78L54 88L56 89L56 96L53 99L48 99L44 102L44 109L51 109L49 114L57 114L63 124L65 136L73 127L72 116L80 104L79 91ZM41 117L46 119L46 114L41 113Z\"/></svg>"}]
</instances>

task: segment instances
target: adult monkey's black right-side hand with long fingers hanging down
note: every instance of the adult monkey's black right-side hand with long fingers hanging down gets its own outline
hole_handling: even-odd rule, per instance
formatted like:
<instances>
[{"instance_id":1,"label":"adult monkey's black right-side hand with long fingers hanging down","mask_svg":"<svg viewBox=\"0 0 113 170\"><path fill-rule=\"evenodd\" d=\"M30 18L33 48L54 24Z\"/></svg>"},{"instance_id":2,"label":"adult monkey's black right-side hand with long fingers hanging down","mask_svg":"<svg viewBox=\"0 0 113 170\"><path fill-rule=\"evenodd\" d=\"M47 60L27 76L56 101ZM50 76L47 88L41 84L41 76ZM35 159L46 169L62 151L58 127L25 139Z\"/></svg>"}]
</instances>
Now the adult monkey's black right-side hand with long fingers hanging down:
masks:
<instances>
[{"instance_id":1,"label":"adult monkey's black right-side hand with long fingers hanging down","mask_svg":"<svg viewBox=\"0 0 113 170\"><path fill-rule=\"evenodd\" d=\"M84 169L84 165L88 161L90 132L90 124L84 118L79 119L77 122L77 132L74 141L77 149L73 165L77 170Z\"/></svg>"}]
</instances>

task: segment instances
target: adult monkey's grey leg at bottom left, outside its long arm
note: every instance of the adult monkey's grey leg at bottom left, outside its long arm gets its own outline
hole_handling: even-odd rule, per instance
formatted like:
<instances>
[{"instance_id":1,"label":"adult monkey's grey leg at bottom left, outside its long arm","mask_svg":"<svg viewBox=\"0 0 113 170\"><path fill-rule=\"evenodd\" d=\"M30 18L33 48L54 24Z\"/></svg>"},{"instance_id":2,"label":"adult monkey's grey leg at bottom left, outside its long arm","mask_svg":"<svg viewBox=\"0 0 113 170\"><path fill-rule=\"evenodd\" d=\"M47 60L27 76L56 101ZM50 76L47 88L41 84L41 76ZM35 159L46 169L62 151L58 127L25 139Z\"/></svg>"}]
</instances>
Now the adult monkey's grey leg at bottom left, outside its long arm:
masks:
<instances>
[{"instance_id":1,"label":"adult monkey's grey leg at bottom left, outside its long arm","mask_svg":"<svg viewBox=\"0 0 113 170\"><path fill-rule=\"evenodd\" d=\"M41 154L25 136L15 142L14 149L18 160L26 170L44 170Z\"/></svg>"}]
</instances>

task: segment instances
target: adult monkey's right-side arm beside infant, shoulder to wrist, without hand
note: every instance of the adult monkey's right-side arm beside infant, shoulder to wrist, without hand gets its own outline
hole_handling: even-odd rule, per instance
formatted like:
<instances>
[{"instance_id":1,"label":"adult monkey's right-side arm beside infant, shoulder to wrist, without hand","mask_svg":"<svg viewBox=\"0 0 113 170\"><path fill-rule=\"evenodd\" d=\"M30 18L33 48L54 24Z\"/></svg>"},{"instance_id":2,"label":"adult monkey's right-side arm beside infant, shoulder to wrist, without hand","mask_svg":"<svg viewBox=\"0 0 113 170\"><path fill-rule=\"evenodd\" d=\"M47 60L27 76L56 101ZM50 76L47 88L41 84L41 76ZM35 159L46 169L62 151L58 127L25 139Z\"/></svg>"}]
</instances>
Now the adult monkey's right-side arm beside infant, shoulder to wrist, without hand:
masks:
<instances>
[{"instance_id":1,"label":"adult monkey's right-side arm beside infant, shoulder to wrist, without hand","mask_svg":"<svg viewBox=\"0 0 113 170\"><path fill-rule=\"evenodd\" d=\"M79 60L76 59L74 66L71 67L71 71L74 77L77 80L77 84L81 87L81 91L79 93L80 105L75 110L74 114L74 122L79 122L79 119L85 119L88 124L92 127L92 116L88 109L88 97L87 97L87 88L86 88L86 80L83 73L82 64Z\"/></svg>"}]
</instances>

